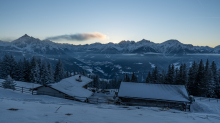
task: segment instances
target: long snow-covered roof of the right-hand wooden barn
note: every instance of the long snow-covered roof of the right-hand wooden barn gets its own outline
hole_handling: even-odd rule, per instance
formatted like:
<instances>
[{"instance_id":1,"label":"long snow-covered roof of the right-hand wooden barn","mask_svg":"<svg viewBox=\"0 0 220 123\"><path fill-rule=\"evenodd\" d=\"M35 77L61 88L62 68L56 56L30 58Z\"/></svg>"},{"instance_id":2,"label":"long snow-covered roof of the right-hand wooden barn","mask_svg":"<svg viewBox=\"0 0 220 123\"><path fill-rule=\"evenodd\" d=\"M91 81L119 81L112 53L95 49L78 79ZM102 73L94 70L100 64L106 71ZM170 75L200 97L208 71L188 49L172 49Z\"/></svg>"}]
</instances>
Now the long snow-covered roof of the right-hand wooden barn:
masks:
<instances>
[{"instance_id":1,"label":"long snow-covered roof of the right-hand wooden barn","mask_svg":"<svg viewBox=\"0 0 220 123\"><path fill-rule=\"evenodd\" d=\"M184 85L122 82L118 97L189 102Z\"/></svg>"}]
</instances>

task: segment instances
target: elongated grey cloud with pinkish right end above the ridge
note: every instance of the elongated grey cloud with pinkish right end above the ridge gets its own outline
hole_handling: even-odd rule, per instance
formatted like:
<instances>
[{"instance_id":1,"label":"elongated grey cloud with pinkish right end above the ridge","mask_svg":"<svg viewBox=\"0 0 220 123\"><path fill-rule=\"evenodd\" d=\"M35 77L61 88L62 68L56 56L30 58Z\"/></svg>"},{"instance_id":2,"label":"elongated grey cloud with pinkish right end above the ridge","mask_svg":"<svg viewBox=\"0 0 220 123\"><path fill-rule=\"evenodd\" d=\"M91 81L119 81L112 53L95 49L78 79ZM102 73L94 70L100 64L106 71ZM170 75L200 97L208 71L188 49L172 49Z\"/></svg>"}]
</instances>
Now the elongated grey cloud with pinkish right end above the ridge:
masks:
<instances>
[{"instance_id":1,"label":"elongated grey cloud with pinkish right end above the ridge","mask_svg":"<svg viewBox=\"0 0 220 123\"><path fill-rule=\"evenodd\" d=\"M79 33L79 34L70 34L70 35L58 35L58 36L52 36L48 37L46 39L49 40L69 40L69 41L85 41L89 39L99 39L99 40L105 40L107 39L107 36L99 33Z\"/></svg>"}]
</instances>

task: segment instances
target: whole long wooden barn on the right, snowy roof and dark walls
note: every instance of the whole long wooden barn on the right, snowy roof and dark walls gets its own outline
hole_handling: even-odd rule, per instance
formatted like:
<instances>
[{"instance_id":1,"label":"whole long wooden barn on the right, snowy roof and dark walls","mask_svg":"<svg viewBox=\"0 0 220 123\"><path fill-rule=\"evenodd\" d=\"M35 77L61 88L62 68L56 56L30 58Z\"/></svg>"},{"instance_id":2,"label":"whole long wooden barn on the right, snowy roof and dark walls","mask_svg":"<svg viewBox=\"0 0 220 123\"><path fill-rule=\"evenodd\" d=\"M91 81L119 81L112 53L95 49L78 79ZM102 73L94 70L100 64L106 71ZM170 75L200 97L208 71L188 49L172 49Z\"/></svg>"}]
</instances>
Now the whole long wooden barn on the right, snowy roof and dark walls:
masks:
<instances>
[{"instance_id":1,"label":"whole long wooden barn on the right, snowy roof and dark walls","mask_svg":"<svg viewBox=\"0 0 220 123\"><path fill-rule=\"evenodd\" d=\"M121 82L118 98L127 105L190 108L184 85Z\"/></svg>"}]
</instances>

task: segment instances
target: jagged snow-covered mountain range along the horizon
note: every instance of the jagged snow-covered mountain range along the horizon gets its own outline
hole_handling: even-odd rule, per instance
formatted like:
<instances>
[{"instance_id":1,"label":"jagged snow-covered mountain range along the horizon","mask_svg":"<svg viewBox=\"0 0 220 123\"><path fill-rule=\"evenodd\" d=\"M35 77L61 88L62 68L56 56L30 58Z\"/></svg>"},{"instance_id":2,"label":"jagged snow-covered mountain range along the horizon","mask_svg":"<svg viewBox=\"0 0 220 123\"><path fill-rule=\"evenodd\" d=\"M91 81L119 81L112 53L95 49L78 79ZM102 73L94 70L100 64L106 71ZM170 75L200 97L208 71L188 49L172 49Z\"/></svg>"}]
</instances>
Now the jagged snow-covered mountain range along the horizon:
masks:
<instances>
[{"instance_id":1,"label":"jagged snow-covered mountain range along the horizon","mask_svg":"<svg viewBox=\"0 0 220 123\"><path fill-rule=\"evenodd\" d=\"M7 50L19 50L38 54L64 54L66 51L89 51L95 53L162 53L164 55L187 54L187 53L220 53L220 45L211 48L208 46L193 46L183 44L178 40L168 40L163 43L154 43L149 40L121 41L120 43L93 43L86 45L60 44L50 40L40 40L25 34L12 41L0 41L0 47Z\"/></svg>"}]
</instances>

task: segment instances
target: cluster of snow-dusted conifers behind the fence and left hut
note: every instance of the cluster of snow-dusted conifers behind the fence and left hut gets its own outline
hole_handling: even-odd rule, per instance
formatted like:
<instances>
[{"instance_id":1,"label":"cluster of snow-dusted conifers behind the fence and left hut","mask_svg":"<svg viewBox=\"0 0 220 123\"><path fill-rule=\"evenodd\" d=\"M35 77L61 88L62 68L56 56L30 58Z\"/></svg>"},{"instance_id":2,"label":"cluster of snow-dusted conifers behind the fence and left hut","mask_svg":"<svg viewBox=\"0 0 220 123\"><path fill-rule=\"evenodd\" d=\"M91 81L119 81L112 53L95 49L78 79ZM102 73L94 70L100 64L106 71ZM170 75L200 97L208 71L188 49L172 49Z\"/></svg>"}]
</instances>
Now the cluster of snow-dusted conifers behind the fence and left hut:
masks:
<instances>
[{"instance_id":1,"label":"cluster of snow-dusted conifers behind the fence and left hut","mask_svg":"<svg viewBox=\"0 0 220 123\"><path fill-rule=\"evenodd\" d=\"M33 57L30 61L24 58L18 62L12 55L5 54L0 59L0 78L5 79L8 75L17 81L48 84L58 82L63 78L71 76L65 72L61 60L58 61L53 70L51 64L42 62L41 59Z\"/></svg>"}]
</instances>

